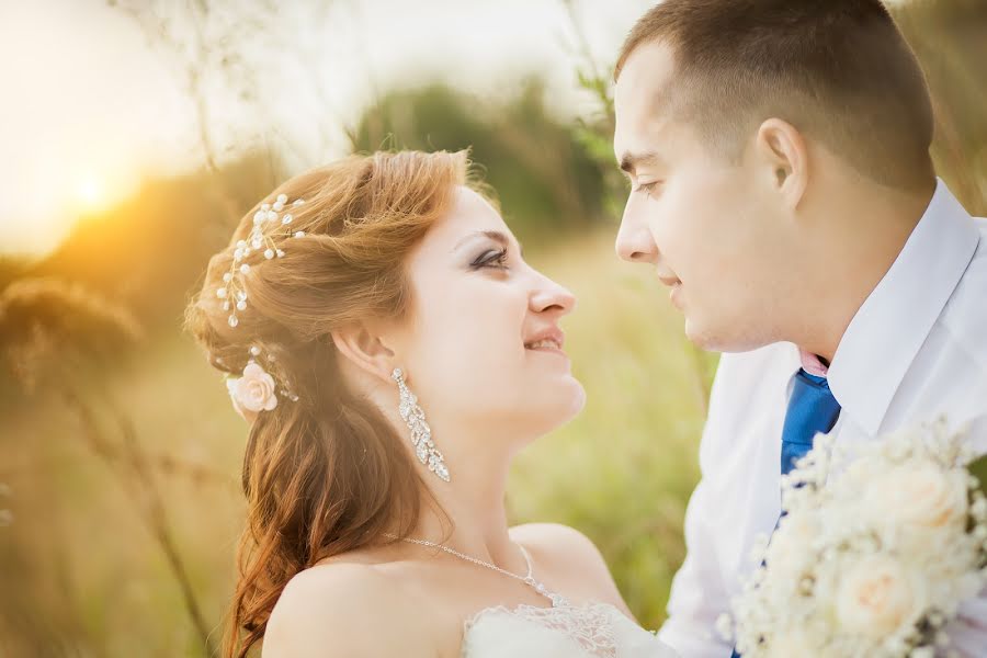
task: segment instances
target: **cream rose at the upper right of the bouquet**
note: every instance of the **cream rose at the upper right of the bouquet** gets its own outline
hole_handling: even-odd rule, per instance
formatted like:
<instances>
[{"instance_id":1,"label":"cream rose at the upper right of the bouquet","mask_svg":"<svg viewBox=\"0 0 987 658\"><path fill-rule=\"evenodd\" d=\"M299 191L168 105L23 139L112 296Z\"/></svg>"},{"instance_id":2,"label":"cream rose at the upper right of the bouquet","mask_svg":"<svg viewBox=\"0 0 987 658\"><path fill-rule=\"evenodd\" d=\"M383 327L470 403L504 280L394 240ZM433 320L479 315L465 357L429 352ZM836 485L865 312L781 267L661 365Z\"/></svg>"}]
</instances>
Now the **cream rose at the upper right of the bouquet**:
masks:
<instances>
[{"instance_id":1,"label":"cream rose at the upper right of the bouquet","mask_svg":"<svg viewBox=\"0 0 987 658\"><path fill-rule=\"evenodd\" d=\"M966 481L931 462L908 462L877 475L867 487L864 504L874 519L895 526L939 529L965 523Z\"/></svg>"}]
</instances>

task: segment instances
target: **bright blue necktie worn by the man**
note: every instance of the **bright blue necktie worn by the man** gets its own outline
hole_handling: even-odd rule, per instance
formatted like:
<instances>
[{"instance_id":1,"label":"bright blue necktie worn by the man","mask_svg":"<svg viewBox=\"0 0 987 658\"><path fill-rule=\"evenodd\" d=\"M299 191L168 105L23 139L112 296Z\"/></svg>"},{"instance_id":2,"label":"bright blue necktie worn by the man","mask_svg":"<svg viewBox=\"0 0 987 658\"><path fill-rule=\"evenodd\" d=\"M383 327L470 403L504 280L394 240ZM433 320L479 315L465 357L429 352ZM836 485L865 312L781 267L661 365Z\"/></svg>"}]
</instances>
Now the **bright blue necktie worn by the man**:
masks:
<instances>
[{"instance_id":1,"label":"bright blue necktie worn by the man","mask_svg":"<svg viewBox=\"0 0 987 658\"><path fill-rule=\"evenodd\" d=\"M817 377L799 368L795 374L782 429L782 475L795 468L795 462L813 449L816 434L829 432L839 416L840 404L832 397L826 377ZM730 658L740 658L740 654L734 649Z\"/></svg>"}]
</instances>

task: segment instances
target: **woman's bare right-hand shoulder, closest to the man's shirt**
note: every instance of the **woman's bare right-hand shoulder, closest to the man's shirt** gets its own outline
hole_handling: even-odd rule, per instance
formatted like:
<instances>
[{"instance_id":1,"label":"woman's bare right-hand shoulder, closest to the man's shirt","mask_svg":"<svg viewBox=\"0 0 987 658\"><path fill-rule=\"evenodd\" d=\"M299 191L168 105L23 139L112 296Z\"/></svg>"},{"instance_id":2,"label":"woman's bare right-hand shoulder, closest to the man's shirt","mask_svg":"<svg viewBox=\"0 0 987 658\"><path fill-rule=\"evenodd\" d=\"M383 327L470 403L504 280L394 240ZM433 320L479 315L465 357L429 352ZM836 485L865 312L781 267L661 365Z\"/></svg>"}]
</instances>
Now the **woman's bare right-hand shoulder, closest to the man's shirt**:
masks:
<instances>
[{"instance_id":1,"label":"woman's bare right-hand shoulder, closest to the man's shirt","mask_svg":"<svg viewBox=\"0 0 987 658\"><path fill-rule=\"evenodd\" d=\"M526 523L511 529L511 537L527 548L542 569L580 598L611 603L634 619L610 575L603 555L592 540L559 523ZM561 592L566 593L566 592Z\"/></svg>"}]
</instances>

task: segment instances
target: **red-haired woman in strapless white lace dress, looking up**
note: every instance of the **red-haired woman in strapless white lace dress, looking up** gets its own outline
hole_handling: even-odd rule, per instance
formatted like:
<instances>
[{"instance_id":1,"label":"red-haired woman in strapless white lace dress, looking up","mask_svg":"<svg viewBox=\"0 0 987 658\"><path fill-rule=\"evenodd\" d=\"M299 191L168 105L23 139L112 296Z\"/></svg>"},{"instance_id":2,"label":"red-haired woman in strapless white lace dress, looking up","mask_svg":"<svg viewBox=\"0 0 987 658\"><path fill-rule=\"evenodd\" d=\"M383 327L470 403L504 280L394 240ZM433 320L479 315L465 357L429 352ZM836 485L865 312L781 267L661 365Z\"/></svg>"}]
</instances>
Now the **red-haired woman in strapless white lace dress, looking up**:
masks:
<instances>
[{"instance_id":1,"label":"red-haired woman in strapless white lace dress, looking up","mask_svg":"<svg viewBox=\"0 0 987 658\"><path fill-rule=\"evenodd\" d=\"M582 534L508 526L512 456L585 393L572 295L481 190L465 152L350 157L209 261L186 322L250 423L228 657L671 654Z\"/></svg>"}]
</instances>

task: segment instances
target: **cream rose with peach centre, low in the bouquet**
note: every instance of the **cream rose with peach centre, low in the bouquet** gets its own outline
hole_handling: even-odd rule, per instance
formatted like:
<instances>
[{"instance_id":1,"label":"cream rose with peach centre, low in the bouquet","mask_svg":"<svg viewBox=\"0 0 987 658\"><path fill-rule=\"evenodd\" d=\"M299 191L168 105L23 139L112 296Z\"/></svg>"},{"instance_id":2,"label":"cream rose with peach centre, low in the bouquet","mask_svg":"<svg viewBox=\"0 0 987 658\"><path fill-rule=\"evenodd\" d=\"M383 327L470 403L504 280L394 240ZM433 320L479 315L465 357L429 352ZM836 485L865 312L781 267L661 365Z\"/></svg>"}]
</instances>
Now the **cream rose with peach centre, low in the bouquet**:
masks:
<instances>
[{"instance_id":1,"label":"cream rose with peach centre, low in the bouquet","mask_svg":"<svg viewBox=\"0 0 987 658\"><path fill-rule=\"evenodd\" d=\"M915 623L922 612L905 567L886 555L867 556L854 564L837 589L837 619L856 635L887 637Z\"/></svg>"}]
</instances>

